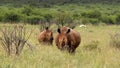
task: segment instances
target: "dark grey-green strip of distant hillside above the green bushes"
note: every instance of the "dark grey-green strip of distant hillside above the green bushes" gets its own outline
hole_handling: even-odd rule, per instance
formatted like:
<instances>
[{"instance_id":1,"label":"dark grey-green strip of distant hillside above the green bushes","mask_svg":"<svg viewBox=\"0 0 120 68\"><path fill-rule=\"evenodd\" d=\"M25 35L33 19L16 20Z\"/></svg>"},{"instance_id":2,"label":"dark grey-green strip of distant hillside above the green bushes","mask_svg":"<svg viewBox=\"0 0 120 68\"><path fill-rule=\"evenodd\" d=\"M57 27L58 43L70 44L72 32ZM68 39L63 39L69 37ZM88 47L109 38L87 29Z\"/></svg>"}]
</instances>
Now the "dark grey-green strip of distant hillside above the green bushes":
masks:
<instances>
[{"instance_id":1,"label":"dark grey-green strip of distant hillside above the green bushes","mask_svg":"<svg viewBox=\"0 0 120 68\"><path fill-rule=\"evenodd\" d=\"M64 5L64 4L80 4L80 3L119 3L119 0L0 0L0 4L11 4L14 6L22 6L31 4L34 6Z\"/></svg>"}]
</instances>

